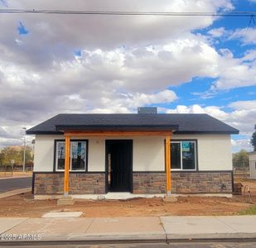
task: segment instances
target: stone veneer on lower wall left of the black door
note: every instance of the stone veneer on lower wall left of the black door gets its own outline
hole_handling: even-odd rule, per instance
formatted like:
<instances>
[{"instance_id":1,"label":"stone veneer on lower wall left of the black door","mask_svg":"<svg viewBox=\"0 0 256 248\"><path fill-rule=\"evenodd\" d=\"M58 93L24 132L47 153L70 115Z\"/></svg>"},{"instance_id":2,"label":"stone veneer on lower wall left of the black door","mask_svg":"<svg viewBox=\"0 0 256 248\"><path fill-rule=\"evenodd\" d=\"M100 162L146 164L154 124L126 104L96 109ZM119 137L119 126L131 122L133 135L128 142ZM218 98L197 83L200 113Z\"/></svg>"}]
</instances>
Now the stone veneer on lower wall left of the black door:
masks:
<instances>
[{"instance_id":1,"label":"stone veneer on lower wall left of the black door","mask_svg":"<svg viewBox=\"0 0 256 248\"><path fill-rule=\"evenodd\" d=\"M64 173L35 173L35 194L63 193ZM70 173L70 194L105 193L104 173Z\"/></svg>"}]
</instances>

